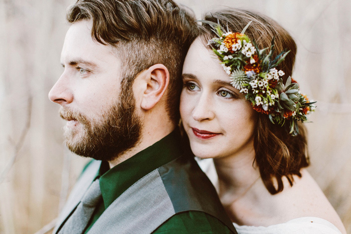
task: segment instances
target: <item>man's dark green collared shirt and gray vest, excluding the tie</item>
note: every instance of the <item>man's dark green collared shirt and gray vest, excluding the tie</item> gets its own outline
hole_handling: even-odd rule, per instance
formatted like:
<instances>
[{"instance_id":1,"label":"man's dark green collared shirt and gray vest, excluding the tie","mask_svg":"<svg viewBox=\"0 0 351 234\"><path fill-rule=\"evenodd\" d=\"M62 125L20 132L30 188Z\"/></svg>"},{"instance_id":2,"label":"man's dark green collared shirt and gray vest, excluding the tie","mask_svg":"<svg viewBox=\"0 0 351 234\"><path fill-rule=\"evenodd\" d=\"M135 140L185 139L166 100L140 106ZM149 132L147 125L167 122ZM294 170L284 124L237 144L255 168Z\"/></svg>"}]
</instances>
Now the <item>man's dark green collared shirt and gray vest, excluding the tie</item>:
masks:
<instances>
[{"instance_id":1,"label":"man's dark green collared shirt and gray vest, excluding the tie","mask_svg":"<svg viewBox=\"0 0 351 234\"><path fill-rule=\"evenodd\" d=\"M174 131L111 169L93 160L54 233L96 178L103 201L86 233L236 233L211 182L180 142Z\"/></svg>"}]
</instances>

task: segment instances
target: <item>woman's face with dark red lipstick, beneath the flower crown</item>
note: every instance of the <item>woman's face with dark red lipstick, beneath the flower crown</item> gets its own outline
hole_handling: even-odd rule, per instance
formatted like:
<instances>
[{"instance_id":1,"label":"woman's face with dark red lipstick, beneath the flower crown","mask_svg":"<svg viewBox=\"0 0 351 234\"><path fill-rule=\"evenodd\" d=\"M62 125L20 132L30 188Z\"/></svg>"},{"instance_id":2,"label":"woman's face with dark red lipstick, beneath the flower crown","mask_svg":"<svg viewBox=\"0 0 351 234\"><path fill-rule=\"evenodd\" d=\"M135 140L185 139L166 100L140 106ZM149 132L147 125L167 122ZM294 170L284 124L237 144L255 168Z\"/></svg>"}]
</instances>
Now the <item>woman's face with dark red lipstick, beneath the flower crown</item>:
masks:
<instances>
[{"instance_id":1,"label":"woman's face with dark red lipstick, beneath the flower crown","mask_svg":"<svg viewBox=\"0 0 351 234\"><path fill-rule=\"evenodd\" d=\"M199 38L185 59L183 84L180 111L196 156L253 152L257 113L230 84L220 60Z\"/></svg>"}]
</instances>

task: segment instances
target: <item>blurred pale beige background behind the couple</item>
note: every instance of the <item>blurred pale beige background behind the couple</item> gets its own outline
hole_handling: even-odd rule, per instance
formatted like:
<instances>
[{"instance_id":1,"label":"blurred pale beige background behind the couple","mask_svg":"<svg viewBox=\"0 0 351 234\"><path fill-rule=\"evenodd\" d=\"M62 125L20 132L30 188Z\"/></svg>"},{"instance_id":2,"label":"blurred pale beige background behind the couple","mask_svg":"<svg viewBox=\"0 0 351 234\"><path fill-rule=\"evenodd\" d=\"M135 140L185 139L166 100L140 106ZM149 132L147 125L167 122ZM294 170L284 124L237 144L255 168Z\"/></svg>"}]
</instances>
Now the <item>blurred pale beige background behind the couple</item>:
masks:
<instances>
[{"instance_id":1,"label":"blurred pale beige background behind the couple","mask_svg":"<svg viewBox=\"0 0 351 234\"><path fill-rule=\"evenodd\" d=\"M351 233L351 1L179 0L198 17L223 6L259 11L298 45L294 79L318 101L308 123L314 176ZM0 0L0 233L55 219L86 159L62 144L59 78L70 0ZM46 228L39 233L43 233Z\"/></svg>"}]
</instances>

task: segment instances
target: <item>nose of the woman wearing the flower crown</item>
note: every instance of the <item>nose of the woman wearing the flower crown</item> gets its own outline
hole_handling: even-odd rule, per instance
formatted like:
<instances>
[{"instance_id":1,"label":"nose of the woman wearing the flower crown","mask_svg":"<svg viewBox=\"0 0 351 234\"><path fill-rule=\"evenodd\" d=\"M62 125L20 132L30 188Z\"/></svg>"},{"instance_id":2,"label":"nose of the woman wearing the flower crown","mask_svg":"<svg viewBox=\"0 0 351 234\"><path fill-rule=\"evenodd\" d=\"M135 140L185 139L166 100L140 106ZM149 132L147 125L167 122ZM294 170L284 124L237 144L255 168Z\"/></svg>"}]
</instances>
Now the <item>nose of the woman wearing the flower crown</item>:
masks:
<instances>
[{"instance_id":1,"label":"nose of the woman wearing the flower crown","mask_svg":"<svg viewBox=\"0 0 351 234\"><path fill-rule=\"evenodd\" d=\"M206 94L202 94L193 109L193 118L196 121L212 120L215 117L213 101Z\"/></svg>"}]
</instances>

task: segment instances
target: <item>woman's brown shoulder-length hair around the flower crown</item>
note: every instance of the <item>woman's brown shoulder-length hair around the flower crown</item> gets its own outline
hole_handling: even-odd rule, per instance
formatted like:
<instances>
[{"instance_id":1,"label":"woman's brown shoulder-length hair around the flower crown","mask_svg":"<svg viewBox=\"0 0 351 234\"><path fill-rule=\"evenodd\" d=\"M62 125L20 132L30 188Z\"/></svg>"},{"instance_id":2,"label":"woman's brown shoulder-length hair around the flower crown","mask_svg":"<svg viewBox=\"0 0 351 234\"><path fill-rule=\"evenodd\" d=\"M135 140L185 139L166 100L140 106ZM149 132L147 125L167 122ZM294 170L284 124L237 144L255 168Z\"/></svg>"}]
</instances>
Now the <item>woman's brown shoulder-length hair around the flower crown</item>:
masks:
<instances>
[{"instance_id":1,"label":"woman's brown shoulder-length hair around the flower crown","mask_svg":"<svg viewBox=\"0 0 351 234\"><path fill-rule=\"evenodd\" d=\"M256 42L259 49L269 48L274 38L273 57L284 49L290 51L277 69L284 71L284 82L289 76L292 77L296 44L289 33L274 20L259 13L239 9L211 12L205 16L204 20L219 22L224 29L228 27L233 33L240 33L252 21L245 34ZM213 37L216 37L215 33L211 31L209 25L204 23L201 33L204 43ZM254 162L259 168L264 185L271 194L283 190L283 176L292 186L293 175L301 177L300 169L309 165L305 127L298 122L299 134L292 136L289 134L289 127L285 125L273 124L268 115L258 113L254 133Z\"/></svg>"}]
</instances>

